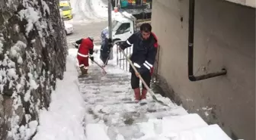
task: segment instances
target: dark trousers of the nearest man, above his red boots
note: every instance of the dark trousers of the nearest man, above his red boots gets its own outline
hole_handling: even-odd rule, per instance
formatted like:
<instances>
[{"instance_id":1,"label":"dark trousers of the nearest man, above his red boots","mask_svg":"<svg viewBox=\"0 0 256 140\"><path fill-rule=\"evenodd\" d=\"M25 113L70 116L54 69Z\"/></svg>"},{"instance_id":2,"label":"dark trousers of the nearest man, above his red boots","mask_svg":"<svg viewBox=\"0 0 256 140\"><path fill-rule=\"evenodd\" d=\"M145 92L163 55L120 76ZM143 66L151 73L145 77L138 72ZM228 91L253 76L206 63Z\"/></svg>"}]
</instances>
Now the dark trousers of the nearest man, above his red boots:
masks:
<instances>
[{"instance_id":1,"label":"dark trousers of the nearest man, above his red boots","mask_svg":"<svg viewBox=\"0 0 256 140\"><path fill-rule=\"evenodd\" d=\"M147 86L150 87L151 74L149 72L146 72L146 73L142 73L141 76L142 76L142 79L144 79L144 81L146 82ZM139 88L139 77L137 77L135 73L132 73L132 76L131 76L131 86L132 86L132 89ZM143 83L142 83L142 88L146 89Z\"/></svg>"}]
</instances>

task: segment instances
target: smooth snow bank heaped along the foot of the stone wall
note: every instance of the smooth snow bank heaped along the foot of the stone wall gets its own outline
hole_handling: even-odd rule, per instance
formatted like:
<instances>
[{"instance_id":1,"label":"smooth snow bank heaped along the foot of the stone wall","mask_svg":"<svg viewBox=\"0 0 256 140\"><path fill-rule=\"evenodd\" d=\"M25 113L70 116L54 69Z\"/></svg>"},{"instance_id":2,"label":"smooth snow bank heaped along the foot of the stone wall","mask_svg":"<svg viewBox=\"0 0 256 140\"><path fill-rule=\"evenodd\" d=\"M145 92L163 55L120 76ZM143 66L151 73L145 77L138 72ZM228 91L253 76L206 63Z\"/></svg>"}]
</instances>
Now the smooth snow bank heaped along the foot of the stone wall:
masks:
<instances>
[{"instance_id":1,"label":"smooth snow bank heaped along the foot of the stone wall","mask_svg":"<svg viewBox=\"0 0 256 140\"><path fill-rule=\"evenodd\" d=\"M40 126L33 140L85 140L84 101L76 82L75 61L68 56L64 79L56 82L49 110L41 110Z\"/></svg>"}]
</instances>

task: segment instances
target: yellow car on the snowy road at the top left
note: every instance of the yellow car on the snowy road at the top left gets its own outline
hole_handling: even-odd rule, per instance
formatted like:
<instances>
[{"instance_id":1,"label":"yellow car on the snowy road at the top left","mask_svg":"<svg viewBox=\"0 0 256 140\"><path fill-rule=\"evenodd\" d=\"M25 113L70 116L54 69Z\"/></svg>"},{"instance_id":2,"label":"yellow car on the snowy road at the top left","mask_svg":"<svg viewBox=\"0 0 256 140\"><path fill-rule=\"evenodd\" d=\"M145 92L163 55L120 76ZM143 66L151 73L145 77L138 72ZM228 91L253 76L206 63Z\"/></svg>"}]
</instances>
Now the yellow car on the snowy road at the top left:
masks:
<instances>
[{"instance_id":1,"label":"yellow car on the snowy road at the top left","mask_svg":"<svg viewBox=\"0 0 256 140\"><path fill-rule=\"evenodd\" d=\"M62 10L63 19L70 20L73 18L72 16L72 8L68 1L61 1L59 2L59 8Z\"/></svg>"}]
</instances>

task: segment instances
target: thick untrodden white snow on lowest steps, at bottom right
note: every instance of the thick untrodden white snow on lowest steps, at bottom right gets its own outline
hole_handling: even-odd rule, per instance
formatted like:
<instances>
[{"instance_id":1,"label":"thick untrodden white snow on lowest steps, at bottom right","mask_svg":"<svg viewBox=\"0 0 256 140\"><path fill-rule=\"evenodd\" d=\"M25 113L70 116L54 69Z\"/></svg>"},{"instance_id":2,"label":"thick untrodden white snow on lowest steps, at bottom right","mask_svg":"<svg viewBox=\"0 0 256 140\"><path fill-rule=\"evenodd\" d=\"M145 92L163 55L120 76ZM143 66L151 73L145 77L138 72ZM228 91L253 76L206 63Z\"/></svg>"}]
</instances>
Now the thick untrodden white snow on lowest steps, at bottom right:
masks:
<instances>
[{"instance_id":1,"label":"thick untrodden white snow on lowest steps, at bottom right","mask_svg":"<svg viewBox=\"0 0 256 140\"><path fill-rule=\"evenodd\" d=\"M139 123L144 136L137 140L232 140L218 125L208 125L197 114L150 119Z\"/></svg>"}]
</instances>

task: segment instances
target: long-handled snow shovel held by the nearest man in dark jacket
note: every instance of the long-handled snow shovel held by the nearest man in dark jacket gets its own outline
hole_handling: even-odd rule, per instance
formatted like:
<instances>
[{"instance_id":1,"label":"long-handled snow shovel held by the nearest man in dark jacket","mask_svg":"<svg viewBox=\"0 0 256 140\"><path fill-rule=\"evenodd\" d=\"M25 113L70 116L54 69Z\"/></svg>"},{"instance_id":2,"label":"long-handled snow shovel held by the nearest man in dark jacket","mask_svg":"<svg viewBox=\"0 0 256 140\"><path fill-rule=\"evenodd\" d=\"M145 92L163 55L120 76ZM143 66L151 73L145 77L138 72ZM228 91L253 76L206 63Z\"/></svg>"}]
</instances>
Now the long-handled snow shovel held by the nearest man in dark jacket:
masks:
<instances>
[{"instance_id":1,"label":"long-handled snow shovel held by the nearest man in dark jacket","mask_svg":"<svg viewBox=\"0 0 256 140\"><path fill-rule=\"evenodd\" d=\"M134 67L133 62L130 61L130 59L128 58L128 56L126 55L126 53L123 51L123 49L120 49L120 51L122 51L123 55L125 56L126 60L129 62L129 64L133 67L133 70L138 73L138 70L136 70L136 67ZM155 97L155 93L152 92L151 89L149 89L149 86L146 84L146 82L144 81L144 79L142 79L142 76L139 74L139 79L142 81L143 85L146 87L146 89L148 90L149 94L152 96L153 100L155 100L156 102L158 102L159 104L162 104L164 106L167 106L167 104L163 103L162 101L159 101L156 97Z\"/></svg>"}]
</instances>

